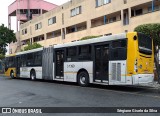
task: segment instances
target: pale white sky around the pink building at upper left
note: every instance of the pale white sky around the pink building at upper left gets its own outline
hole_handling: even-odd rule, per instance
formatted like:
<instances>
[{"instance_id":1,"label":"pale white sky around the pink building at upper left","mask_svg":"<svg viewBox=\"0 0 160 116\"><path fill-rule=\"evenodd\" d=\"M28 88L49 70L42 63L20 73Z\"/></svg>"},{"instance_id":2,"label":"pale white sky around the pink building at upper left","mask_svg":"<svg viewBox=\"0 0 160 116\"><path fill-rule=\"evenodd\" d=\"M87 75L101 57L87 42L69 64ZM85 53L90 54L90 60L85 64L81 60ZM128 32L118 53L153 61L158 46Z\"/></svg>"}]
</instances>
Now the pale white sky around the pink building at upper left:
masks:
<instances>
[{"instance_id":1,"label":"pale white sky around the pink building at upper left","mask_svg":"<svg viewBox=\"0 0 160 116\"><path fill-rule=\"evenodd\" d=\"M13 3L15 0L1 0L0 1L0 25L4 24L5 26L8 26L8 6ZM57 5L62 5L63 3L69 1L69 0L45 0L47 2L51 2ZM16 21L15 17L12 17L12 30L16 30Z\"/></svg>"}]
</instances>

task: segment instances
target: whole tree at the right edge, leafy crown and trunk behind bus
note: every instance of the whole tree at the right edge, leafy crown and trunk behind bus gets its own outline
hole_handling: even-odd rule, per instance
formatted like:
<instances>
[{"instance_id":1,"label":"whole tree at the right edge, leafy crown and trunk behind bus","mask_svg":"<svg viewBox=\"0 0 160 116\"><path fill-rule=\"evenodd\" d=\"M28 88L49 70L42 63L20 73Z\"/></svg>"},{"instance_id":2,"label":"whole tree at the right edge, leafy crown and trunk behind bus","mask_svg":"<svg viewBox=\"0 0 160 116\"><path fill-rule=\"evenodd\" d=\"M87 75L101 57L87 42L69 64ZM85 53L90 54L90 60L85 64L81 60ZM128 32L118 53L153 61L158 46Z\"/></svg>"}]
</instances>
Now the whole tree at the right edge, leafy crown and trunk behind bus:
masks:
<instances>
[{"instance_id":1,"label":"whole tree at the right edge, leafy crown and trunk behind bus","mask_svg":"<svg viewBox=\"0 0 160 116\"><path fill-rule=\"evenodd\" d=\"M158 82L160 83L160 67L158 56L159 49L157 49L157 47L160 47L160 23L139 25L134 29L134 31L144 33L153 38L155 58L154 61L156 65L156 71L158 74Z\"/></svg>"}]
</instances>

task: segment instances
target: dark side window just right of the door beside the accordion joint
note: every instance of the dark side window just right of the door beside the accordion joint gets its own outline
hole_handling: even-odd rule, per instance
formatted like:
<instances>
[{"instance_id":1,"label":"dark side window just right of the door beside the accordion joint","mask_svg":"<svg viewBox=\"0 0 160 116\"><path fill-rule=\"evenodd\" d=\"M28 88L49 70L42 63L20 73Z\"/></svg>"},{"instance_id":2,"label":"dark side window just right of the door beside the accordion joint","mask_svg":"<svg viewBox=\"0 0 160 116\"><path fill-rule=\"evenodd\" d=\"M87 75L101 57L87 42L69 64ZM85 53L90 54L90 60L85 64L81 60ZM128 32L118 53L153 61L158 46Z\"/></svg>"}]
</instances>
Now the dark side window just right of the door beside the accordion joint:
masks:
<instances>
[{"instance_id":1,"label":"dark side window just right of the door beside the accordion joint","mask_svg":"<svg viewBox=\"0 0 160 116\"><path fill-rule=\"evenodd\" d=\"M67 48L67 61L76 61L77 47Z\"/></svg>"}]
</instances>

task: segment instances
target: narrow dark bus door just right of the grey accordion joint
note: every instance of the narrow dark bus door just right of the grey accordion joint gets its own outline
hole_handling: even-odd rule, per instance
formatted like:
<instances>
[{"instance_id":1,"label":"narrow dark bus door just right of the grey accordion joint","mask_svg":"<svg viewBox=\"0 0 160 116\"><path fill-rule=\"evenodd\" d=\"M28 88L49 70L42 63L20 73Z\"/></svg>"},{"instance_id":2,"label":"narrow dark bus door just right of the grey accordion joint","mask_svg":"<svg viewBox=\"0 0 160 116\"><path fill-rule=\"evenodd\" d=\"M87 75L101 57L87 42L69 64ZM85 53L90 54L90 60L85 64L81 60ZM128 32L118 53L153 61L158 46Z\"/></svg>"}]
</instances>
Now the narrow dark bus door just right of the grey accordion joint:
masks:
<instances>
[{"instance_id":1,"label":"narrow dark bus door just right of the grey accordion joint","mask_svg":"<svg viewBox=\"0 0 160 116\"><path fill-rule=\"evenodd\" d=\"M64 77L64 51L56 51L56 78Z\"/></svg>"}]
</instances>

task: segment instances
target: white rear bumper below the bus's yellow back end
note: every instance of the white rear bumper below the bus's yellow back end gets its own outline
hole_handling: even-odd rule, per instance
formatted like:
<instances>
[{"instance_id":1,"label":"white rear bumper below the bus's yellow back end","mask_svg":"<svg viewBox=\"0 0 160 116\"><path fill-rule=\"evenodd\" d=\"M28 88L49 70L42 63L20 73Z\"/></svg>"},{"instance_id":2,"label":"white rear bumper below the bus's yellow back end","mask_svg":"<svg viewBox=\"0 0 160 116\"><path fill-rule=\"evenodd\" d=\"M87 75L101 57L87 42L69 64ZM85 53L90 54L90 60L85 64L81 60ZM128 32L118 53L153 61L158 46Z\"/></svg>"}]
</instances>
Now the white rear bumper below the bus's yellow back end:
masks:
<instances>
[{"instance_id":1,"label":"white rear bumper below the bus's yellow back end","mask_svg":"<svg viewBox=\"0 0 160 116\"><path fill-rule=\"evenodd\" d=\"M137 74L132 76L133 85L144 85L153 83L154 74Z\"/></svg>"}]
</instances>

